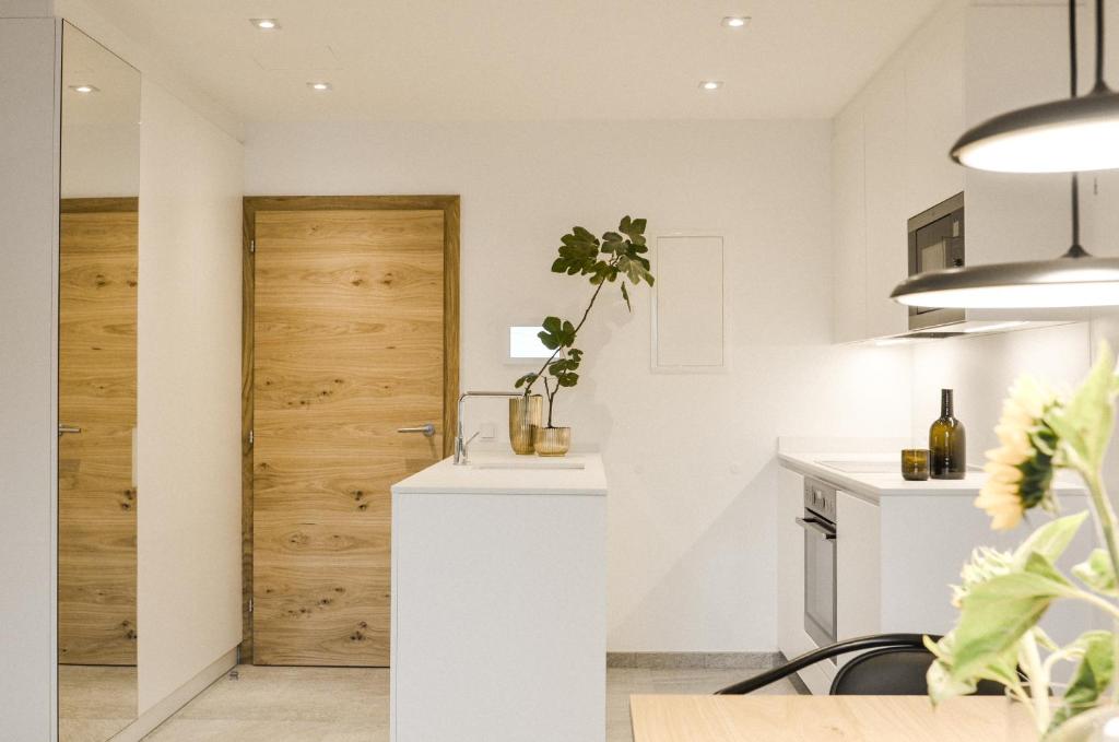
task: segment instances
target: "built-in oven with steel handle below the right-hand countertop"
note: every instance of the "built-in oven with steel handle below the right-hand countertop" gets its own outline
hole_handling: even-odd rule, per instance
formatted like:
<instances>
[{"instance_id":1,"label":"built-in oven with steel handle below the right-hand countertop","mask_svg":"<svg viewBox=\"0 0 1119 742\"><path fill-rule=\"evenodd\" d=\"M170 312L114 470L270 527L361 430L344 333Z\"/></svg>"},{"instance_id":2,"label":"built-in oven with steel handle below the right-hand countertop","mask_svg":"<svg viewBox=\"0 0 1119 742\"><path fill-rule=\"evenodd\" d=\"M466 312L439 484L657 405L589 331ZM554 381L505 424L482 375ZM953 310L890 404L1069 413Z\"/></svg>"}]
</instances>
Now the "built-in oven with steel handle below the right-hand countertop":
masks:
<instances>
[{"instance_id":1,"label":"built-in oven with steel handle below the right-hand countertop","mask_svg":"<svg viewBox=\"0 0 1119 742\"><path fill-rule=\"evenodd\" d=\"M824 647L836 641L836 490L805 477L805 631ZM833 660L834 661L834 660Z\"/></svg>"}]
</instances>

